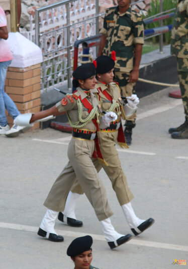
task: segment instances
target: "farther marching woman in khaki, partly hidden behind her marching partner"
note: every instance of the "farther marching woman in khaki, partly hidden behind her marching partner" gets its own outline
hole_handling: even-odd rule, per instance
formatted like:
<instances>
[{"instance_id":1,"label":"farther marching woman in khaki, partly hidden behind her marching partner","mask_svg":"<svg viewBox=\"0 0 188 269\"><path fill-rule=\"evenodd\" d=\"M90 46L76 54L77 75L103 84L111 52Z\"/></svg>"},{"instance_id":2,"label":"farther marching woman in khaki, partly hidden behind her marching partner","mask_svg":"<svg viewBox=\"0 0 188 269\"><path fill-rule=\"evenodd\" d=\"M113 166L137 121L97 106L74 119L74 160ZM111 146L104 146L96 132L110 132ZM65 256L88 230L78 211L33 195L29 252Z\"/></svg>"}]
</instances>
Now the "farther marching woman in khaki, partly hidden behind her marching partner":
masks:
<instances>
[{"instance_id":1,"label":"farther marching woman in khaki, partly hidden behind her marching partner","mask_svg":"<svg viewBox=\"0 0 188 269\"><path fill-rule=\"evenodd\" d=\"M139 103L139 100L138 97L133 94L131 97L127 97L128 105L122 105L124 102L121 99L120 88L116 82L113 82L115 51L112 52L112 58L108 56L100 56L96 59L96 61L98 79L96 88L98 88L100 94L102 110L106 112L115 112L118 119L116 121L112 121L110 126L107 128L102 128L101 125L101 130L99 132L101 152L108 163L108 166L104 166L103 164L100 165L96 162L94 163L98 172L102 167L104 168L112 182L112 187L116 192L118 201L123 209L123 213L130 229L134 235L139 235L149 228L154 223L154 220L149 218L145 221L136 216L131 205L131 200L134 196L128 187L127 179L122 170L116 149L117 141L121 147L128 147L124 138L121 117L125 119L125 114L126 116L128 116L128 114L133 114L136 111L136 104ZM124 110L122 109L123 107ZM58 219L60 221L67 222L68 225L74 224L74 226L76 226L75 224L77 223L77 226L79 226L80 221L77 221L75 218L74 208L80 194L83 194L83 191L80 188L78 181L76 181L68 194L64 212L59 212ZM68 222L68 220L71 220L71 222Z\"/></svg>"}]
</instances>

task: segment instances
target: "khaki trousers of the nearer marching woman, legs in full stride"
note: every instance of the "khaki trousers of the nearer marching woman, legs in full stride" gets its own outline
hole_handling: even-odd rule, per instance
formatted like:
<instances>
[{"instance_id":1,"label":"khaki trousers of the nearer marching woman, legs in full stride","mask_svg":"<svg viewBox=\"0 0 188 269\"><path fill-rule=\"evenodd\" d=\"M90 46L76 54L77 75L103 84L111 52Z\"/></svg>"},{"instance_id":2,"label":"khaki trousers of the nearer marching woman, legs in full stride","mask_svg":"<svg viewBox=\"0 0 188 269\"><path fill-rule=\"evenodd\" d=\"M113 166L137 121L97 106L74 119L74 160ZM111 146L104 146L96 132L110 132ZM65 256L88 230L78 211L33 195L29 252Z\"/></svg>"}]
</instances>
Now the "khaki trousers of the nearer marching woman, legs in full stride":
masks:
<instances>
[{"instance_id":1,"label":"khaki trousers of the nearer marching woman, legs in full stride","mask_svg":"<svg viewBox=\"0 0 188 269\"><path fill-rule=\"evenodd\" d=\"M76 178L95 209L99 221L113 215L107 200L106 189L99 179L91 156L95 142L72 138L68 146L69 162L53 184L44 205L54 211L63 211L66 197Z\"/></svg>"}]
</instances>

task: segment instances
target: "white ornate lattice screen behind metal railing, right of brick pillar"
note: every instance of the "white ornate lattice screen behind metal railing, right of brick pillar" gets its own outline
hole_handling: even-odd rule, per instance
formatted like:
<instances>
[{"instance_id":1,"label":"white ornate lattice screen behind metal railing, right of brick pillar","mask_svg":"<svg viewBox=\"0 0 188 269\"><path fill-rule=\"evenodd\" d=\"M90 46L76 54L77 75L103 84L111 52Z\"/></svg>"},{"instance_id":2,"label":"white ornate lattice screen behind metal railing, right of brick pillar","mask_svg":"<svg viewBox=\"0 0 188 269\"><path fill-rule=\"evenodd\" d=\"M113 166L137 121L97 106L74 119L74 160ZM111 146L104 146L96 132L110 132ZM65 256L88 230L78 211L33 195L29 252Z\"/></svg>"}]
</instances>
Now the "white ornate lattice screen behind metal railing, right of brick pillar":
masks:
<instances>
[{"instance_id":1,"label":"white ornate lattice screen behind metal railing, right of brick pillar","mask_svg":"<svg viewBox=\"0 0 188 269\"><path fill-rule=\"evenodd\" d=\"M73 44L97 34L99 16L98 0L66 0L36 10L35 42L43 53L42 90L58 87L65 80L71 88Z\"/></svg>"}]
</instances>

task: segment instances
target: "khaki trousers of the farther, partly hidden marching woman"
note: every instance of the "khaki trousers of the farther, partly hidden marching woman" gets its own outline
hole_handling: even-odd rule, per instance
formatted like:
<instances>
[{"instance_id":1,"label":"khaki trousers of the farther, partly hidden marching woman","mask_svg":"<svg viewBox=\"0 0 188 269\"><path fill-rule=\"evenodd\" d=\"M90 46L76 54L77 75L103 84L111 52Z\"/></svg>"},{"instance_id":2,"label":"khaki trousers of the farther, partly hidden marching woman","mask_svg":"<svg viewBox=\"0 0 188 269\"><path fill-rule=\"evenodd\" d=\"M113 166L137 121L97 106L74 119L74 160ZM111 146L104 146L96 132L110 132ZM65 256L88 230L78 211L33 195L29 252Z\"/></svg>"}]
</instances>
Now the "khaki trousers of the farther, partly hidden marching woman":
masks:
<instances>
[{"instance_id":1,"label":"khaki trousers of the farther, partly hidden marching woman","mask_svg":"<svg viewBox=\"0 0 188 269\"><path fill-rule=\"evenodd\" d=\"M97 171L101 168L105 170L112 182L112 187L116 192L116 196L120 205L130 202L134 196L128 187L127 178L122 170L118 152L116 149L116 142L118 132L99 132L100 148L104 159L109 166L100 165L97 160L94 161ZM83 191L78 181L74 182L71 188L72 192L83 194Z\"/></svg>"}]
</instances>

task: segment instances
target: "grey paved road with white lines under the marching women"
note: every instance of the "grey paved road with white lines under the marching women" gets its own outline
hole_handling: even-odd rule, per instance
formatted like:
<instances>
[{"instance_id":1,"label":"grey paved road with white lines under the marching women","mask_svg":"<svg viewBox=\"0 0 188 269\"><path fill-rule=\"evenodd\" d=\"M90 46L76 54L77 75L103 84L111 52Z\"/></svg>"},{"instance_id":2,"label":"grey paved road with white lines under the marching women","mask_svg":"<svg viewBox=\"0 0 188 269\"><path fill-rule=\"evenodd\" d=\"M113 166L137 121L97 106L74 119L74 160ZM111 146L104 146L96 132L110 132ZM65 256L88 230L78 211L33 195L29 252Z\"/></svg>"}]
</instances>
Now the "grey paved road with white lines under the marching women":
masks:
<instances>
[{"instance_id":1,"label":"grey paved road with white lines under the marching women","mask_svg":"<svg viewBox=\"0 0 188 269\"><path fill-rule=\"evenodd\" d=\"M181 100L168 97L170 88L141 99L133 143L119 150L122 167L135 195L138 217L154 218L155 224L121 247L110 250L92 207L82 195L76 216L82 228L56 222L63 243L37 236L45 213L43 206L54 180L67 162L70 134L53 129L36 130L17 138L0 137L1 211L0 268L71 269L66 256L76 236L93 236L93 262L100 269L174 268L174 259L186 259L188 140L174 140L167 130L184 121ZM101 171L112 223L120 233L130 233L109 179Z\"/></svg>"}]
</instances>

